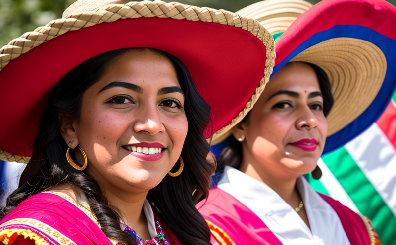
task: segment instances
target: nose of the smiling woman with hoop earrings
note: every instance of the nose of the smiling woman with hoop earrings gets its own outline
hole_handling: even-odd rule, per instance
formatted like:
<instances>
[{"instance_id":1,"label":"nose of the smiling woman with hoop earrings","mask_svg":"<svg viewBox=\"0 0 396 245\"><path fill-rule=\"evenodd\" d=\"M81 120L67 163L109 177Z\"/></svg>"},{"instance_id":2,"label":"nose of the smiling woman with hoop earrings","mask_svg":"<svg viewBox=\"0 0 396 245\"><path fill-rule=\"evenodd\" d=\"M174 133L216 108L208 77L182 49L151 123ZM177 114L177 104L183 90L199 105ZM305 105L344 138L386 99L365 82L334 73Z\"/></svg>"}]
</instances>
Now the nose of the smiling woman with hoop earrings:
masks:
<instances>
[{"instance_id":1,"label":"nose of the smiling woman with hoop earrings","mask_svg":"<svg viewBox=\"0 0 396 245\"><path fill-rule=\"evenodd\" d=\"M157 106L139 108L133 117L135 117L133 124L135 132L148 132L150 135L154 135L165 131Z\"/></svg>"}]
</instances>

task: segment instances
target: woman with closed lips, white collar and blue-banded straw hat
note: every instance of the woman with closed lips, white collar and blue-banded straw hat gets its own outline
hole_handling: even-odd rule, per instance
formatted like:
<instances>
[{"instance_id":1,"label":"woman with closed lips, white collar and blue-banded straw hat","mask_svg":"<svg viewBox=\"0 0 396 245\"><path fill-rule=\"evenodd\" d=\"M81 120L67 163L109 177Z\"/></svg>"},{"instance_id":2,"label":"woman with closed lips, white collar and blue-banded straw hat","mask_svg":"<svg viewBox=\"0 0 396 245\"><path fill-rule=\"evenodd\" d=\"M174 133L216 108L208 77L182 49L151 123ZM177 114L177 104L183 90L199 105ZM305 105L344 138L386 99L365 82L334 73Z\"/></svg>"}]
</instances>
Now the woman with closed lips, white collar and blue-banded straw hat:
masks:
<instances>
[{"instance_id":1,"label":"woman with closed lips, white collar and blue-banded straw hat","mask_svg":"<svg viewBox=\"0 0 396 245\"><path fill-rule=\"evenodd\" d=\"M262 1L240 13L271 23L262 15L296 18L299 2ZM270 81L241 123L214 136L216 144L232 134L218 157L221 179L197 205L213 234L228 244L379 244L366 218L302 175L319 178L321 154L386 107L396 84L395 21L396 8L383 0L323 0L283 34L273 29Z\"/></svg>"}]
</instances>

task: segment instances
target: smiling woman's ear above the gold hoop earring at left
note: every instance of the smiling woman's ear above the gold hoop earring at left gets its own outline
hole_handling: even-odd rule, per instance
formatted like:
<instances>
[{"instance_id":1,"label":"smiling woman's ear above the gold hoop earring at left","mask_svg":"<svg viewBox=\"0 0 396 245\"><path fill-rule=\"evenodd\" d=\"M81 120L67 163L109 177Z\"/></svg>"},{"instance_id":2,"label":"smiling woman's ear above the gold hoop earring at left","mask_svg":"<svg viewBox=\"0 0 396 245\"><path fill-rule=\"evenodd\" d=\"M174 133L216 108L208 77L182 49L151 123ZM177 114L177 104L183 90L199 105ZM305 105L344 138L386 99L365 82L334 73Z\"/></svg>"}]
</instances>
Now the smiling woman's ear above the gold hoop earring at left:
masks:
<instances>
[{"instance_id":1,"label":"smiling woman's ear above the gold hoop earring at left","mask_svg":"<svg viewBox=\"0 0 396 245\"><path fill-rule=\"evenodd\" d=\"M60 134L68 145L70 142L72 143L69 147L74 149L78 145L77 138L77 119L71 118L69 115L64 113L59 113L58 115L58 123Z\"/></svg>"}]
</instances>

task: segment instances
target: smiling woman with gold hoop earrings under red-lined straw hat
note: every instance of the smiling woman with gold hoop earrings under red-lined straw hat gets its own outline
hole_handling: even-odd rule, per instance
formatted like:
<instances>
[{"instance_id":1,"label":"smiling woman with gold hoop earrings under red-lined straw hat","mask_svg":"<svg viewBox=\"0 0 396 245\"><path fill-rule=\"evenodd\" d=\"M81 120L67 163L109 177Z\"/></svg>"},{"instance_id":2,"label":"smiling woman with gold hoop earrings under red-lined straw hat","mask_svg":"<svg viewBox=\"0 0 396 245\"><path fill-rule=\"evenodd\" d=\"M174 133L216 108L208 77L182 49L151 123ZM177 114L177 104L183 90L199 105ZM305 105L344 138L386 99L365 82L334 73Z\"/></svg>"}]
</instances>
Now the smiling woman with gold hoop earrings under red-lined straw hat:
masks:
<instances>
[{"instance_id":1,"label":"smiling woman with gold hoop earrings under red-lined straw hat","mask_svg":"<svg viewBox=\"0 0 396 245\"><path fill-rule=\"evenodd\" d=\"M27 163L4 244L210 244L206 139L259 97L273 38L224 10L118 2L78 0L0 49L0 159Z\"/></svg>"}]
</instances>

